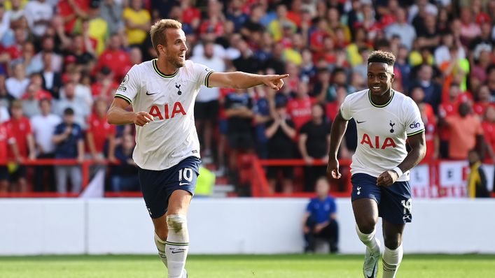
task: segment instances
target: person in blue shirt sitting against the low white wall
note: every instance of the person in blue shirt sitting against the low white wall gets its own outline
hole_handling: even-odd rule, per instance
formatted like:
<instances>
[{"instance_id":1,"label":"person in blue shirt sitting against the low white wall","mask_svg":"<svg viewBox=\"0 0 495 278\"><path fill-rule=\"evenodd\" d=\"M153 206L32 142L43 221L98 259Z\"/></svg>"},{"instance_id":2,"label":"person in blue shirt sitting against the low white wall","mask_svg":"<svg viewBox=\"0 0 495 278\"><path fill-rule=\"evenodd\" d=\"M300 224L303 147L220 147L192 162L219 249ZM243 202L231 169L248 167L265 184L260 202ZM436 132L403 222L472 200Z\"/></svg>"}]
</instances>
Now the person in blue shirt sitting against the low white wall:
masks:
<instances>
[{"instance_id":1,"label":"person in blue shirt sitting against the low white wall","mask_svg":"<svg viewBox=\"0 0 495 278\"><path fill-rule=\"evenodd\" d=\"M304 217L302 217L305 252L314 252L316 238L328 240L330 253L339 251L337 204L335 199L328 195L329 191L330 184L328 184L326 177L319 177L316 181L316 198L309 201Z\"/></svg>"}]
</instances>

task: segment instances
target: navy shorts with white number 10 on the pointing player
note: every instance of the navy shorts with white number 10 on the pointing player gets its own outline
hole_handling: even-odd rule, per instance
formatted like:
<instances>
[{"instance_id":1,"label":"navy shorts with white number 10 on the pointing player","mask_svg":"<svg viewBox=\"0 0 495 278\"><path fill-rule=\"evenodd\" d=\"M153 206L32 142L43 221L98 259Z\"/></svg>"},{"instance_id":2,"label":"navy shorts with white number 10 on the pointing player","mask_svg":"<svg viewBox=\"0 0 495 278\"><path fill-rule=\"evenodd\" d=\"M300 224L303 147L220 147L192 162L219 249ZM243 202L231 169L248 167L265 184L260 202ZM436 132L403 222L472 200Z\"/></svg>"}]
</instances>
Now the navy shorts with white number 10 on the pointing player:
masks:
<instances>
[{"instance_id":1,"label":"navy shorts with white number 10 on the pointing player","mask_svg":"<svg viewBox=\"0 0 495 278\"><path fill-rule=\"evenodd\" d=\"M162 217L167 212L174 191L185 190L194 195L200 162L197 157L189 156L165 170L139 168L139 184L151 218Z\"/></svg>"}]
</instances>

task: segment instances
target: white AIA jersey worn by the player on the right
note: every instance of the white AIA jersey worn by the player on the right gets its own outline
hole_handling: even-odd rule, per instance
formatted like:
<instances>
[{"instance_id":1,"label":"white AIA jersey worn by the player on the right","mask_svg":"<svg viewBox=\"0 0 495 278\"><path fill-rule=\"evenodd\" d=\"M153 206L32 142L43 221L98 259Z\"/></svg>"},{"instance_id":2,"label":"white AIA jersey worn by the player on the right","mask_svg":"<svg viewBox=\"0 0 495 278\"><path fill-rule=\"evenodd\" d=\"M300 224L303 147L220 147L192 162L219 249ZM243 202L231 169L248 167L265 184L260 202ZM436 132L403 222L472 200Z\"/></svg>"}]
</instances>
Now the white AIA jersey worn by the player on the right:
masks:
<instances>
[{"instance_id":1,"label":"white AIA jersey worn by the player on the right","mask_svg":"<svg viewBox=\"0 0 495 278\"><path fill-rule=\"evenodd\" d=\"M419 108L412 98L392 90L384 105L372 103L368 89L350 94L340 106L344 119L354 118L358 147L352 156L351 174L365 173L378 177L396 168L407 156L405 141L424 131ZM398 181L409 180L409 171Z\"/></svg>"}]
</instances>

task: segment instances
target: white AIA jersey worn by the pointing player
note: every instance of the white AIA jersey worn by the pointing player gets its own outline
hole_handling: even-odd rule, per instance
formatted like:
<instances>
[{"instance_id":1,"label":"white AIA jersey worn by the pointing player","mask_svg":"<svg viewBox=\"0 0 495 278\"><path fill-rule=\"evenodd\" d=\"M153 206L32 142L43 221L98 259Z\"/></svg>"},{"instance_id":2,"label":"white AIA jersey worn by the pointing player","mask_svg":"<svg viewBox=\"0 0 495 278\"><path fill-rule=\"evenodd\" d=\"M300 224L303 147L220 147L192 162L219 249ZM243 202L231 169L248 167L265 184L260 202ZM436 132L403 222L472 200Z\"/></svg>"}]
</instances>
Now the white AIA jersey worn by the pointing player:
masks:
<instances>
[{"instance_id":1,"label":"white AIA jersey worn by the pointing player","mask_svg":"<svg viewBox=\"0 0 495 278\"><path fill-rule=\"evenodd\" d=\"M201 85L208 87L209 68L186 61L172 75L160 72L156 59L134 65L117 89L116 97L132 104L135 112L155 119L136 126L132 158L147 170L164 170L188 156L200 157L194 124L194 103Z\"/></svg>"}]
</instances>

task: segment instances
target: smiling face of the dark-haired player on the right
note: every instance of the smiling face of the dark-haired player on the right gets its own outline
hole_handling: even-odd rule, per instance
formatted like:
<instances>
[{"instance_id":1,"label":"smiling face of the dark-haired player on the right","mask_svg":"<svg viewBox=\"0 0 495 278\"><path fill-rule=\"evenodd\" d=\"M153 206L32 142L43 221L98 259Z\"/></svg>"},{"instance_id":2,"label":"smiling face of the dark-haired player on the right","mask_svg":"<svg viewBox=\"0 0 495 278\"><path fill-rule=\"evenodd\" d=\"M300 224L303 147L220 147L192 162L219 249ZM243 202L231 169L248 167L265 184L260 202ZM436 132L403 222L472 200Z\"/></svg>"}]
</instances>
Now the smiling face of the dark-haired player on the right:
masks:
<instances>
[{"instance_id":1,"label":"smiling face of the dark-haired player on the right","mask_svg":"<svg viewBox=\"0 0 495 278\"><path fill-rule=\"evenodd\" d=\"M392 87L393 66L385 63L369 63L368 64L368 88L371 94L382 96Z\"/></svg>"}]
</instances>

